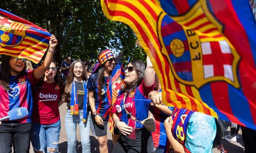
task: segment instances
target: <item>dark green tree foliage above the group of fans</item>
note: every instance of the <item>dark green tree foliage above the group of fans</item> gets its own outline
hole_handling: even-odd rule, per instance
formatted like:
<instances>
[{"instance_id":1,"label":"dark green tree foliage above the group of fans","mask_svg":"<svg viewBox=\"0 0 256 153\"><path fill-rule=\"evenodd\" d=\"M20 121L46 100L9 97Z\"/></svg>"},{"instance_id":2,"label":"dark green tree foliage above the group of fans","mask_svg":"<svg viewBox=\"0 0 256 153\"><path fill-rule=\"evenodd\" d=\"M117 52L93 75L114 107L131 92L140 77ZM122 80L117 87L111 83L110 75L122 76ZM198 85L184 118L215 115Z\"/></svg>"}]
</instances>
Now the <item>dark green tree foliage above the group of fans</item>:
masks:
<instances>
[{"instance_id":1,"label":"dark green tree foliage above the group of fans","mask_svg":"<svg viewBox=\"0 0 256 153\"><path fill-rule=\"evenodd\" d=\"M9 0L1 8L55 34L57 60L61 56L96 59L100 51L109 48L119 53L122 61L129 56L145 61L145 52L135 45L134 32L107 19L100 0Z\"/></svg>"}]
</instances>

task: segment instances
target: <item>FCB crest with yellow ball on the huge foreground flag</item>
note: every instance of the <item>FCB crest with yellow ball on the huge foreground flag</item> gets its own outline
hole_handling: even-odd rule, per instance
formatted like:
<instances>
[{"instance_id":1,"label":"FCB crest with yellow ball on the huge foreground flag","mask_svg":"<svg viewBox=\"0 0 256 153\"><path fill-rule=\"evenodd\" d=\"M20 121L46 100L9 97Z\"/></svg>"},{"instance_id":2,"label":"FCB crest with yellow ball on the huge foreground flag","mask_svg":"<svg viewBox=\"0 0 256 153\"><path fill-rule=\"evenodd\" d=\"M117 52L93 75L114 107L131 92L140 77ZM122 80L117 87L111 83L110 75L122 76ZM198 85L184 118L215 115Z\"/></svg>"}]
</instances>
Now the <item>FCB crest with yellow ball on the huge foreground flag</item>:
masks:
<instances>
[{"instance_id":1,"label":"FCB crest with yellow ball on the huge foreground flag","mask_svg":"<svg viewBox=\"0 0 256 153\"><path fill-rule=\"evenodd\" d=\"M197 2L183 15L170 17L163 12L159 16L157 33L161 52L182 84L200 88L209 82L225 81L239 88L237 65L240 56L218 31L223 29L221 24L211 14L204 14L202 7ZM170 12L170 15L175 14Z\"/></svg>"}]
</instances>

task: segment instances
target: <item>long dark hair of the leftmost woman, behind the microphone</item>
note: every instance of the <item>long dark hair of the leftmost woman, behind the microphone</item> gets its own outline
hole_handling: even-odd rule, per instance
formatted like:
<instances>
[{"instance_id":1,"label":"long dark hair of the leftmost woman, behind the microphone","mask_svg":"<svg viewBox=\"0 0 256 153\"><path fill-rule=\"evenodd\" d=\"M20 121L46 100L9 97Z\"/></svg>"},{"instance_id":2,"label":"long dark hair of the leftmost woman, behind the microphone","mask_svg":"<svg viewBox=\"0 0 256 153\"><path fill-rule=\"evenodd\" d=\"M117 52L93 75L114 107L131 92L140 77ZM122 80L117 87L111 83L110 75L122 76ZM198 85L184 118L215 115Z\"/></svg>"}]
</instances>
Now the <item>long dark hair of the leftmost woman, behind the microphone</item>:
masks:
<instances>
[{"instance_id":1,"label":"long dark hair of the leftmost woman, behind the microphone","mask_svg":"<svg viewBox=\"0 0 256 153\"><path fill-rule=\"evenodd\" d=\"M0 68L0 85L5 89L5 90L10 90L9 87L9 82L10 82L10 64L9 64L9 60L12 56L9 55L2 55L2 65ZM21 73L19 73L19 75L17 75L17 77L15 78L18 79L20 76L23 76L26 74L26 62L24 63L24 68L21 71Z\"/></svg>"}]
</instances>

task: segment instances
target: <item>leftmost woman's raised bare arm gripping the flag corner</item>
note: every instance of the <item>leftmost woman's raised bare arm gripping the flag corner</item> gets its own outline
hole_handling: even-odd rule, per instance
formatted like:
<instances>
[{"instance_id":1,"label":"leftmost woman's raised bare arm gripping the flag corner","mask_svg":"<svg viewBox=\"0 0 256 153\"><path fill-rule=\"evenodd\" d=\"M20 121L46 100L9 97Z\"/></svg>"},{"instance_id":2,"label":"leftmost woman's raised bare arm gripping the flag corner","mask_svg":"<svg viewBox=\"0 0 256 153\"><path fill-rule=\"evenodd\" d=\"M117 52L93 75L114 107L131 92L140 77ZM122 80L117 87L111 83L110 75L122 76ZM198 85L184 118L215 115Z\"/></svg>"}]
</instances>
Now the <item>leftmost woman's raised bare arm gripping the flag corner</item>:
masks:
<instances>
[{"instance_id":1,"label":"leftmost woman's raised bare arm gripping the flag corner","mask_svg":"<svg viewBox=\"0 0 256 153\"><path fill-rule=\"evenodd\" d=\"M45 56L45 60L43 61L43 64L35 69L34 76L35 78L39 79L43 76L47 68L50 66L52 62L52 58L54 55L55 47L57 46L58 41L56 37L52 34L49 41L49 49L47 51L47 54Z\"/></svg>"}]
</instances>

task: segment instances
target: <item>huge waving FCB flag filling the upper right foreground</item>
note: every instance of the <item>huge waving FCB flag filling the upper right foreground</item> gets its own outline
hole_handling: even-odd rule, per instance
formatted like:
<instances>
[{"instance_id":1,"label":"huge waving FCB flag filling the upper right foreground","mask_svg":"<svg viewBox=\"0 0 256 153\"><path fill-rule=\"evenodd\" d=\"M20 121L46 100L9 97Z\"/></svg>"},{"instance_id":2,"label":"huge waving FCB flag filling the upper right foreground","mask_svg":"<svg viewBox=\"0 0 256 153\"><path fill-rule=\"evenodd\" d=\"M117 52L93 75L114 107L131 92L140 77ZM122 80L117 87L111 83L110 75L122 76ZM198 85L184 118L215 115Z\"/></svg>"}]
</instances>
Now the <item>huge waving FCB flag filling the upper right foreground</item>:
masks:
<instances>
[{"instance_id":1,"label":"huge waving FCB flag filling the upper right foreground","mask_svg":"<svg viewBox=\"0 0 256 153\"><path fill-rule=\"evenodd\" d=\"M154 65L164 104L256 129L256 22L247 0L101 0Z\"/></svg>"}]
</instances>

